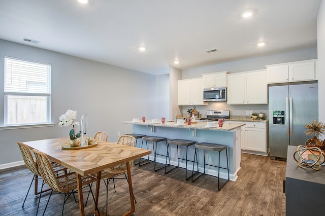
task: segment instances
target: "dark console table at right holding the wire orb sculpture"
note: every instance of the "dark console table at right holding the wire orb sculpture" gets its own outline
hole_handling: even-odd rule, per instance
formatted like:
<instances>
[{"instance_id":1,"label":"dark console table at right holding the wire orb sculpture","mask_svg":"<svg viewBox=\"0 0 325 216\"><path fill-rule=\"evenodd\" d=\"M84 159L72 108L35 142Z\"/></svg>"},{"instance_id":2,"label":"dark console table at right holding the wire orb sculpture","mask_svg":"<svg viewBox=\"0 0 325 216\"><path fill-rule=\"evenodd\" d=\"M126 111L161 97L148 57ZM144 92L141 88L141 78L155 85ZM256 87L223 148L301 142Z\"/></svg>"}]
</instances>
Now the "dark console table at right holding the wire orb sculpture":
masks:
<instances>
[{"instance_id":1,"label":"dark console table at right holding the wire orb sculpture","mask_svg":"<svg viewBox=\"0 0 325 216\"><path fill-rule=\"evenodd\" d=\"M285 213L291 215L325 214L325 166L315 171L300 168L294 160L297 147L288 146L285 173Z\"/></svg>"}]
</instances>

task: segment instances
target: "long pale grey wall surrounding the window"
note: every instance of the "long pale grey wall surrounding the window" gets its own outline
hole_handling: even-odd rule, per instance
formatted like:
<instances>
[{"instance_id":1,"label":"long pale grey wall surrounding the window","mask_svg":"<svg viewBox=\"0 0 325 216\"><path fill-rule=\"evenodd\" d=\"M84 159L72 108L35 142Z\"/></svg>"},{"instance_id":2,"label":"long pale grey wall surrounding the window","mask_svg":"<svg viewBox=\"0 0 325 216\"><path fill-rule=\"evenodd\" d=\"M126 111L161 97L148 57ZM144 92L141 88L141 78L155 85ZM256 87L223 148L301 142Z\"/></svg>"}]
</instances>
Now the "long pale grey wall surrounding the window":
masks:
<instances>
[{"instance_id":1,"label":"long pale grey wall surrounding the window","mask_svg":"<svg viewBox=\"0 0 325 216\"><path fill-rule=\"evenodd\" d=\"M4 164L22 160L17 141L68 136L71 128L57 125L59 116L68 109L77 111L77 121L82 114L88 115L89 136L105 131L109 141L117 140L117 132L132 132L131 125L119 124L120 121L168 115L169 80L166 75L156 77L3 40L0 40L0 95L4 95L5 56L52 65L51 118L56 125L0 130L0 169ZM4 100L0 99L0 125L4 122L3 113Z\"/></svg>"}]
</instances>

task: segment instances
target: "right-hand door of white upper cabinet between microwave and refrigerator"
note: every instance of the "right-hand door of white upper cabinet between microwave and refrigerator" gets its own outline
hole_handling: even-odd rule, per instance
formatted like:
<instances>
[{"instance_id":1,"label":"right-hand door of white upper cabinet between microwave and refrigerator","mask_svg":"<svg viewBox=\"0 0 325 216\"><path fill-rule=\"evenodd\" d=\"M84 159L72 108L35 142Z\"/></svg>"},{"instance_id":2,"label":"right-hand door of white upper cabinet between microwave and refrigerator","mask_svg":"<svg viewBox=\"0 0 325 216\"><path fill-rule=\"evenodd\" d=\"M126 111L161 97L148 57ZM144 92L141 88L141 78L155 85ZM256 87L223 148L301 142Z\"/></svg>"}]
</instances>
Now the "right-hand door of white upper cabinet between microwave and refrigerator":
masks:
<instances>
[{"instance_id":1,"label":"right-hand door of white upper cabinet between microwave and refrigerator","mask_svg":"<svg viewBox=\"0 0 325 216\"><path fill-rule=\"evenodd\" d=\"M246 74L246 103L268 103L266 71L258 71Z\"/></svg>"}]
</instances>

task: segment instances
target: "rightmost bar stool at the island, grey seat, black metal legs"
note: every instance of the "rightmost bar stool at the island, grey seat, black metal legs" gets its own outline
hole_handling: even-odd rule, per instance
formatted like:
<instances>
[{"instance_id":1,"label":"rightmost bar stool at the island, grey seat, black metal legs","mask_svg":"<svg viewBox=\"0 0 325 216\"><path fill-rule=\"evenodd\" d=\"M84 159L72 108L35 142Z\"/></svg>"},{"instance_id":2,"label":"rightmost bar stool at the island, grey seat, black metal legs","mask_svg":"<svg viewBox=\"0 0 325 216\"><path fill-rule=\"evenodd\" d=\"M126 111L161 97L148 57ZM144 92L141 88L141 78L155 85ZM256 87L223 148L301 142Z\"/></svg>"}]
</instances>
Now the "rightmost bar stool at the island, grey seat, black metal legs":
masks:
<instances>
[{"instance_id":1,"label":"rightmost bar stool at the island, grey seat, black metal legs","mask_svg":"<svg viewBox=\"0 0 325 216\"><path fill-rule=\"evenodd\" d=\"M198 177L193 179L193 175L196 173L200 173L199 169L196 173L194 173L194 163L197 163L198 165L198 154L197 154L197 149L203 149L203 160L204 160L204 172L199 175ZM206 164L205 163L205 150L209 150L209 151L215 151L215 152L219 152L219 157L218 157L218 166L215 165L211 165L211 164ZM222 152L223 150L225 150L225 155L226 155L226 160L227 160L227 168L224 167L220 167L220 152ZM197 159L197 162L195 162L195 159ZM205 173L205 165L209 165L209 166L214 166L214 167L218 167L218 191L220 191L220 189L227 183L229 182L229 165L228 165L228 152L227 152L227 146L225 145L220 145L220 144L215 144L215 143L208 143L208 142L201 142L201 143L196 143L195 145L195 153L194 153L194 161L193 161L193 170L192 170L192 182L194 182L195 179L199 178L200 176L206 174ZM220 180L220 168L221 169L226 169L228 170L228 179L226 179L226 181L221 185L219 184L219 180Z\"/></svg>"}]
</instances>

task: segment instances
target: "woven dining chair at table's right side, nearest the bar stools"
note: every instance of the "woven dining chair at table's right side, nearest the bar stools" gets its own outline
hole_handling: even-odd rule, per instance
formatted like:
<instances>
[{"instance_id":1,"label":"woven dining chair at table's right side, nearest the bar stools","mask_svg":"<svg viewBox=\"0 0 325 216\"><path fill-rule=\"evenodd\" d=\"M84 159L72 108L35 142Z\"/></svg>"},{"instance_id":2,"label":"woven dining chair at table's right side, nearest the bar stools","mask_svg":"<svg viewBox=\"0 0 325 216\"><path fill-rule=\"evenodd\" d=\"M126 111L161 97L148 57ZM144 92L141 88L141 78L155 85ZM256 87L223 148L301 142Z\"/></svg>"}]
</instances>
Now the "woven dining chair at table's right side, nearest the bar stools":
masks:
<instances>
[{"instance_id":1,"label":"woven dining chair at table's right side, nearest the bar stools","mask_svg":"<svg viewBox=\"0 0 325 216\"><path fill-rule=\"evenodd\" d=\"M118 138L117 143L120 145L135 147L136 139L133 136L121 135ZM129 161L129 164L130 164L130 169L131 169L133 167L133 161ZM106 186L106 215L107 215L107 206L108 206L108 184L110 182L110 179L113 179L114 192L116 192L114 179L124 179L125 178L128 183L128 179L125 174L126 171L127 171L126 163L119 164L119 165L110 167L108 169L104 169L102 171L101 179L103 179L105 186ZM124 174L125 177L123 177L123 178L115 177L115 176L121 175L121 174ZM134 195L133 195L133 198L135 200L135 203L137 203L137 200Z\"/></svg>"}]
</instances>

